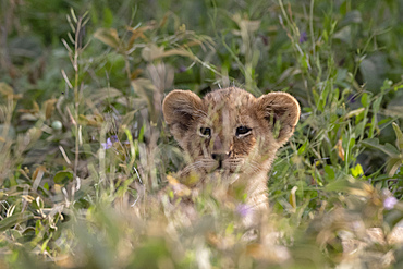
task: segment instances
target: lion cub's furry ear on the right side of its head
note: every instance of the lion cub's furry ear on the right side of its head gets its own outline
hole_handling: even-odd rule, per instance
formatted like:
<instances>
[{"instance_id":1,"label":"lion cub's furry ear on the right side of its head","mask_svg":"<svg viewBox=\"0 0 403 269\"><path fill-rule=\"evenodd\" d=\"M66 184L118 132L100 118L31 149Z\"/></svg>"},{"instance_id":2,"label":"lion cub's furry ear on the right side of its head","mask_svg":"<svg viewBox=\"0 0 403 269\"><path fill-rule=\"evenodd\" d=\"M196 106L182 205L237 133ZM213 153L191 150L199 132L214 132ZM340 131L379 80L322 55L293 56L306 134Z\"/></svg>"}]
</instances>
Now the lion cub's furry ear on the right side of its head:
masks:
<instances>
[{"instance_id":1,"label":"lion cub's furry ear on the right side of its head","mask_svg":"<svg viewBox=\"0 0 403 269\"><path fill-rule=\"evenodd\" d=\"M286 93L270 93L257 99L259 119L269 122L274 138L283 144L292 136L300 120L300 105Z\"/></svg>"}]
</instances>

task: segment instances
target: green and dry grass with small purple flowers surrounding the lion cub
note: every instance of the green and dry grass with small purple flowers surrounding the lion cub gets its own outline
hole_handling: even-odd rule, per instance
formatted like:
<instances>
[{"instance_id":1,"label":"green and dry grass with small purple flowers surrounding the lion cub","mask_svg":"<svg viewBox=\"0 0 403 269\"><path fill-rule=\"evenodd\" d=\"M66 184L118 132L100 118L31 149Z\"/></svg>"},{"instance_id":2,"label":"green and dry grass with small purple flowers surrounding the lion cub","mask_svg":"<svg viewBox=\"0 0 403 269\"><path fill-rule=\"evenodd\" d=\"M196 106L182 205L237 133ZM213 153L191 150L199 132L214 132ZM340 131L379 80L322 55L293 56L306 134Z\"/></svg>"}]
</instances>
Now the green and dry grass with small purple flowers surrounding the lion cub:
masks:
<instances>
[{"instance_id":1,"label":"green and dry grass with small purple flowers surrounding the lion cub","mask_svg":"<svg viewBox=\"0 0 403 269\"><path fill-rule=\"evenodd\" d=\"M365 235L403 217L399 1L1 4L0 267L400 268L401 244ZM163 96L230 85L302 107L269 240L209 187L191 223L169 176Z\"/></svg>"}]
</instances>

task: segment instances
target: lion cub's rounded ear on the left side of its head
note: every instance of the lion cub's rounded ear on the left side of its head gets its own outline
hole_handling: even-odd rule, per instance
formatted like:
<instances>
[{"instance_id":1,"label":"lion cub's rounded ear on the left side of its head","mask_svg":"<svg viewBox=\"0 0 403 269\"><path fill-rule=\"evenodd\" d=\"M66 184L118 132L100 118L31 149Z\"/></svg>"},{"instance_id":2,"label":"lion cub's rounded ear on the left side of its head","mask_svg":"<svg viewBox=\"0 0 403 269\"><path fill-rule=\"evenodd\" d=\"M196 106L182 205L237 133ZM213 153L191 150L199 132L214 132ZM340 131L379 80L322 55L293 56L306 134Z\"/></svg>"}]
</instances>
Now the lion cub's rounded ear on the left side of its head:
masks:
<instances>
[{"instance_id":1,"label":"lion cub's rounded ear on the left side of its head","mask_svg":"<svg viewBox=\"0 0 403 269\"><path fill-rule=\"evenodd\" d=\"M200 115L202 99L191 90L172 90L163 100L162 112L172 135L178 142Z\"/></svg>"}]
</instances>

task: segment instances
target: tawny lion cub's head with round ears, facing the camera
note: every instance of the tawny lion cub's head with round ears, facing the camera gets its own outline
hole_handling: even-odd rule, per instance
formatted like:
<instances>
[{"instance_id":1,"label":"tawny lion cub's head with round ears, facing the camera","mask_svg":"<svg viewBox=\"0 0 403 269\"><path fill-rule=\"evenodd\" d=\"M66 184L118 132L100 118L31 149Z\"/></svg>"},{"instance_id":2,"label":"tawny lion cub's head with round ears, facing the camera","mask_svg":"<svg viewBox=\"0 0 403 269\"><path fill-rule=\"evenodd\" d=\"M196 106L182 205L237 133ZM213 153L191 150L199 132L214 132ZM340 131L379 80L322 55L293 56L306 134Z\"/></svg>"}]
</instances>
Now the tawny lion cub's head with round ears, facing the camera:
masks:
<instances>
[{"instance_id":1,"label":"tawny lion cub's head with round ears, facing the camera","mask_svg":"<svg viewBox=\"0 0 403 269\"><path fill-rule=\"evenodd\" d=\"M235 87L215 90L203 99L176 89L166 97L162 110L171 133L192 160L184 172L200 176L267 173L300 118L298 102L289 94L255 98Z\"/></svg>"}]
</instances>

